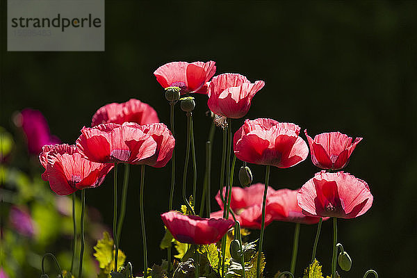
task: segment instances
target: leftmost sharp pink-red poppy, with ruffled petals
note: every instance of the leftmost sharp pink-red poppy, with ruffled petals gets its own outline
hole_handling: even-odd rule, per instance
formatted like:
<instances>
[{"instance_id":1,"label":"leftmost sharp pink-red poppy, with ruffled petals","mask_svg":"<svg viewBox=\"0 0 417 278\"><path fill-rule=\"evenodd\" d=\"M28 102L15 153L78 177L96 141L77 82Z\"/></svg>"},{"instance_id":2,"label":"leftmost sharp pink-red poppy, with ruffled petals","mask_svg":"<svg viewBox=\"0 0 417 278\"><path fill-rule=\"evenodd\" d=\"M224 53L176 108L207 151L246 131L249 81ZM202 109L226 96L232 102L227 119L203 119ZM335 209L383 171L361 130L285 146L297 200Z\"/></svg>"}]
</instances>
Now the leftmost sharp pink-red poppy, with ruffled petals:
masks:
<instances>
[{"instance_id":1,"label":"leftmost sharp pink-red poppy, with ruffled petals","mask_svg":"<svg viewBox=\"0 0 417 278\"><path fill-rule=\"evenodd\" d=\"M41 177L44 181L49 181L51 189L58 195L100 186L106 174L113 168L111 164L88 161L74 151L73 145L47 146L45 150L47 153L42 152L39 156L41 164L46 165Z\"/></svg>"}]
</instances>

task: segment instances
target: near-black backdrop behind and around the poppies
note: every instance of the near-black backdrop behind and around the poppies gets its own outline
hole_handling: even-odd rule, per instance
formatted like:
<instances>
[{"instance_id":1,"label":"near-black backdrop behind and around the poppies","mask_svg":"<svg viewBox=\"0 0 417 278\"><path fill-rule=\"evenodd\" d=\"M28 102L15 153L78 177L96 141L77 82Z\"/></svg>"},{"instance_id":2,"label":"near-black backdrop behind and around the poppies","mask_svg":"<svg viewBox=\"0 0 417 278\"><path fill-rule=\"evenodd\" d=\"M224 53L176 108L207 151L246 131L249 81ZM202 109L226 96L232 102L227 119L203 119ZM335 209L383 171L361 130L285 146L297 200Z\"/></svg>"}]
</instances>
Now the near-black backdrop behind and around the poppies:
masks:
<instances>
[{"instance_id":1,"label":"near-black backdrop behind and around the poppies","mask_svg":"<svg viewBox=\"0 0 417 278\"><path fill-rule=\"evenodd\" d=\"M6 18L5 2L1 1L2 19ZM216 74L237 72L250 81L265 81L248 118L294 122L311 136L341 131L364 138L345 171L367 181L375 200L365 215L338 222L338 238L353 260L352 270L341 275L362 277L373 268L382 277L413 277L411 265L417 263L416 13L415 1L106 1L104 52L7 52L2 20L0 125L19 142L21 134L12 115L33 108L47 118L52 134L74 143L99 107L130 98L153 106L168 124L169 106L154 70L175 60L214 60ZM204 142L211 124L206 99L196 96L194 114L200 186ZM243 119L235 120L234 131L242 123ZM179 173L186 116L178 106L176 124ZM213 197L219 180L220 129L214 141ZM21 147L19 152L24 155L10 158L10 165L26 173L38 167L29 166L26 149ZM265 168L250 167L254 182L263 182ZM120 248L141 269L140 170L133 167L131 171ZM315 172L318 168L307 158L289 169L273 168L270 185L299 188ZM181 205L180 176L174 200L177 208ZM152 265L166 256L165 250L159 250L164 234L159 215L168 206L170 166L148 167L145 181ZM112 185L109 175L100 188L87 192L88 206L97 208L107 227L112 223ZM212 210L218 208L213 198ZM3 223L7 221L5 215L2 218ZM265 230L266 277L288 270L293 231L294 224L284 222L274 222ZM316 226L301 228L298 276L309 263L315 232ZM252 231L251 236L258 233ZM70 239L51 246L54 250L44 251L70 250ZM87 252L92 256L91 247ZM331 254L332 224L324 222L317 256L325 273L330 272Z\"/></svg>"}]
</instances>

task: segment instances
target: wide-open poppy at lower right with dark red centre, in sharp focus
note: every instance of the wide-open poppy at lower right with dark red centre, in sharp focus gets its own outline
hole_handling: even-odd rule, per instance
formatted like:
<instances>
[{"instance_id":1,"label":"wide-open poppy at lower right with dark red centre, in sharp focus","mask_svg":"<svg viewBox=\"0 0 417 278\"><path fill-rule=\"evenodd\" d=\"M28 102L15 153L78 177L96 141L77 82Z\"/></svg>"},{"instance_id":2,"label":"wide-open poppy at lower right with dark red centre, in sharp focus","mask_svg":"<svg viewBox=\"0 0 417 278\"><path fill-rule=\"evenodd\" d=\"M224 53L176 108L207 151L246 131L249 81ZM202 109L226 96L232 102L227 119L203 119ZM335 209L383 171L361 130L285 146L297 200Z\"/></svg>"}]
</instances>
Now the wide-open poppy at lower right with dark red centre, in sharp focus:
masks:
<instances>
[{"instance_id":1,"label":"wide-open poppy at lower right with dark red centre, in sharp focus","mask_svg":"<svg viewBox=\"0 0 417 278\"><path fill-rule=\"evenodd\" d=\"M305 215L356 218L372 206L368 184L349 173L325 171L307 181L297 193Z\"/></svg>"}]
</instances>

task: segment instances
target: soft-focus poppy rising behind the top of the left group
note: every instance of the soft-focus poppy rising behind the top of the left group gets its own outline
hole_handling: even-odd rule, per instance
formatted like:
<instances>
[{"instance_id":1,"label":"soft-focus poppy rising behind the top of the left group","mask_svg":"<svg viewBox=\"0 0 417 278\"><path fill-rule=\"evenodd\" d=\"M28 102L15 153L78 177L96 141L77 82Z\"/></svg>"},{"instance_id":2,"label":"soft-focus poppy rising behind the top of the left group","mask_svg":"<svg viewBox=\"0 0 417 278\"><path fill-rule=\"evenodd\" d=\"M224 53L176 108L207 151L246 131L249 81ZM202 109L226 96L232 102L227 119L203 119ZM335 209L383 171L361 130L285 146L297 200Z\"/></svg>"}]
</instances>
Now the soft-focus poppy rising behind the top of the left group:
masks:
<instances>
[{"instance_id":1,"label":"soft-focus poppy rising behind the top of the left group","mask_svg":"<svg viewBox=\"0 0 417 278\"><path fill-rule=\"evenodd\" d=\"M136 122L137 124L153 124L159 122L158 114L149 104L138 99L130 99L122 104L107 104L92 116L91 126L113 122Z\"/></svg>"}]
</instances>

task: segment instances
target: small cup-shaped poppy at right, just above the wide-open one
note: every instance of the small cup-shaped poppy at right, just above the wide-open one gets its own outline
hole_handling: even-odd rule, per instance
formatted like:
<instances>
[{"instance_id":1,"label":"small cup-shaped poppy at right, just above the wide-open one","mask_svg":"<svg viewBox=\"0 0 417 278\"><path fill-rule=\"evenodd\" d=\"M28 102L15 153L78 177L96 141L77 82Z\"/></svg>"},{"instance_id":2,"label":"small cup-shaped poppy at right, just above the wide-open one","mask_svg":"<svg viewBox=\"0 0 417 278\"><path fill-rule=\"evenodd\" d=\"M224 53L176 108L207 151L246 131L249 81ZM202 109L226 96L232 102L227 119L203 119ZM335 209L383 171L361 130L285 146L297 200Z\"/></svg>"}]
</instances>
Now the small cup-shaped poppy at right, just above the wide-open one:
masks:
<instances>
[{"instance_id":1,"label":"small cup-shaped poppy at right, just above the wide-open one","mask_svg":"<svg viewBox=\"0 0 417 278\"><path fill-rule=\"evenodd\" d=\"M349 162L356 145L362 138L356 138L352 143L352 137L340 132L321 133L314 136L314 140L304 130L310 145L311 161L322 169L342 169Z\"/></svg>"}]
</instances>

